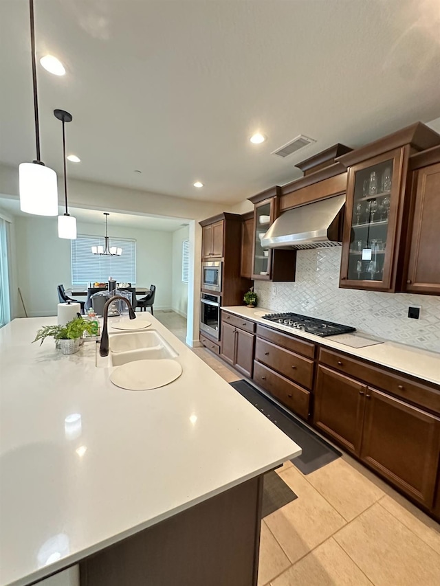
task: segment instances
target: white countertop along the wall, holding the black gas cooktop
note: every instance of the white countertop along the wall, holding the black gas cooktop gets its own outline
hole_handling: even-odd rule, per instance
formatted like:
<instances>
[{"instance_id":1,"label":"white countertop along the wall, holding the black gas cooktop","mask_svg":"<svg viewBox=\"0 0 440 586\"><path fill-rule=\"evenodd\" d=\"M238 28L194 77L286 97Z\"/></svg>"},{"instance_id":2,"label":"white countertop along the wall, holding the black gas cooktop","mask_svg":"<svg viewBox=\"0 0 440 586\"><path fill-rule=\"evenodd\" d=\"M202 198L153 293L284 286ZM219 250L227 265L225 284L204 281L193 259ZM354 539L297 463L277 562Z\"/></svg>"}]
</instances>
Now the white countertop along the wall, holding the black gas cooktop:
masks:
<instances>
[{"instance_id":1,"label":"white countertop along the wall, holding the black gas cooktop","mask_svg":"<svg viewBox=\"0 0 440 586\"><path fill-rule=\"evenodd\" d=\"M405 344L390 341L384 341L384 343L375 344L375 346L368 346L366 348L351 348L338 342L338 336L322 338L263 319L263 315L274 313L270 309L262 307L250 308L246 306L230 306L222 307L222 309L240 315L241 317L252 319L254 322L263 326L275 328L290 335L319 343L321 346L340 350L341 352L351 354L353 357L360 357L382 366L388 366L388 368L393 368L404 374L417 376L417 378L423 379L423 381L440 385L440 354L438 352L420 350L419 348L412 348ZM371 337L361 333L359 335L366 338Z\"/></svg>"}]
</instances>

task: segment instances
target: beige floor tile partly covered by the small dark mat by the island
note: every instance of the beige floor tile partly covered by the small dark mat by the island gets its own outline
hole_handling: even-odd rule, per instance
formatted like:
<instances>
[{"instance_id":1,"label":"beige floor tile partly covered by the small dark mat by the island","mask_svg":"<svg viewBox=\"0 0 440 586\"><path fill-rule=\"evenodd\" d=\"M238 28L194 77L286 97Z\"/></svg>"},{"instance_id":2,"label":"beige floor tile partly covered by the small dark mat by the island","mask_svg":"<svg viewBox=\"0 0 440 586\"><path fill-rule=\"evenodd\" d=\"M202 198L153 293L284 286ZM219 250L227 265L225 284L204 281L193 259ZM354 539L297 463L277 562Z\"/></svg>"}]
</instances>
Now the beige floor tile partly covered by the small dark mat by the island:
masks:
<instances>
[{"instance_id":1,"label":"beige floor tile partly covered by the small dark mat by the island","mask_svg":"<svg viewBox=\"0 0 440 586\"><path fill-rule=\"evenodd\" d=\"M280 476L298 498L267 515L265 522L294 563L344 526L346 521L295 466L289 466Z\"/></svg>"}]
</instances>

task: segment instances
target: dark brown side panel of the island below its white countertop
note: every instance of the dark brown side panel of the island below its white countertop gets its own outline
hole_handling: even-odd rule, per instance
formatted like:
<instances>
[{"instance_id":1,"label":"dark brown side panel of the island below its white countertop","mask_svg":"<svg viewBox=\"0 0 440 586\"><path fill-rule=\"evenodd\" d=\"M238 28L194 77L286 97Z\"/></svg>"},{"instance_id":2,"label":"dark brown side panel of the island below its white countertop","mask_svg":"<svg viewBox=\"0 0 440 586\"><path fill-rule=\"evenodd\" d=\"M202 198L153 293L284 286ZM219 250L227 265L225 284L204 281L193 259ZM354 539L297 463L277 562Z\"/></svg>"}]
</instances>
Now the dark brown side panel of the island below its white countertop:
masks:
<instances>
[{"instance_id":1,"label":"dark brown side panel of the island below its white countertop","mask_svg":"<svg viewBox=\"0 0 440 586\"><path fill-rule=\"evenodd\" d=\"M256 586L263 477L80 563L81 586Z\"/></svg>"}]
</instances>

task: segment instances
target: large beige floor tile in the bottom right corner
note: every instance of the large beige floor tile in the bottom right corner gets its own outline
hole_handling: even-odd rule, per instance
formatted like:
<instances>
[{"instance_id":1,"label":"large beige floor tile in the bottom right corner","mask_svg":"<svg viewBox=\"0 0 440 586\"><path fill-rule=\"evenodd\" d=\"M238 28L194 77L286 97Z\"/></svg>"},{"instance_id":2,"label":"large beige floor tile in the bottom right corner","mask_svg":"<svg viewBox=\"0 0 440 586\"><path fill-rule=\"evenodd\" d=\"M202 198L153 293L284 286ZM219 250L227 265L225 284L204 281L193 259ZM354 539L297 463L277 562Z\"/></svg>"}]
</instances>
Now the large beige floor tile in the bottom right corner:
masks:
<instances>
[{"instance_id":1,"label":"large beige floor tile in the bottom right corner","mask_svg":"<svg viewBox=\"0 0 440 586\"><path fill-rule=\"evenodd\" d=\"M375 503L334 536L375 586L439 586L440 556Z\"/></svg>"}]
</instances>

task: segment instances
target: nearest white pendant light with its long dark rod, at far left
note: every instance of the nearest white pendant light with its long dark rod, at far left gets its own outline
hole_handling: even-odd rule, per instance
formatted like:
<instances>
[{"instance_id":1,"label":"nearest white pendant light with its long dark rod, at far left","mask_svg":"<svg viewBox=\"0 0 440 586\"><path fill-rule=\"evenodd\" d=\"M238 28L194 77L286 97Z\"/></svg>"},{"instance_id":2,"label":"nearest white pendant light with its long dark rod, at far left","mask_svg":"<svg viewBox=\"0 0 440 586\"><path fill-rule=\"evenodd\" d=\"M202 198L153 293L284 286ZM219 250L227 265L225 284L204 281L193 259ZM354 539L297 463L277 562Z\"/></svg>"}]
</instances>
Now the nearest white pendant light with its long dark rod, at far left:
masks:
<instances>
[{"instance_id":1,"label":"nearest white pendant light with its long dark rod, at far left","mask_svg":"<svg viewBox=\"0 0 440 586\"><path fill-rule=\"evenodd\" d=\"M32 53L32 83L34 87L34 117L36 160L19 165L20 209L37 216L58 215L58 188L56 172L45 167L40 153L39 99L36 89L36 57L34 30L34 0L29 0L30 44Z\"/></svg>"}]
</instances>

